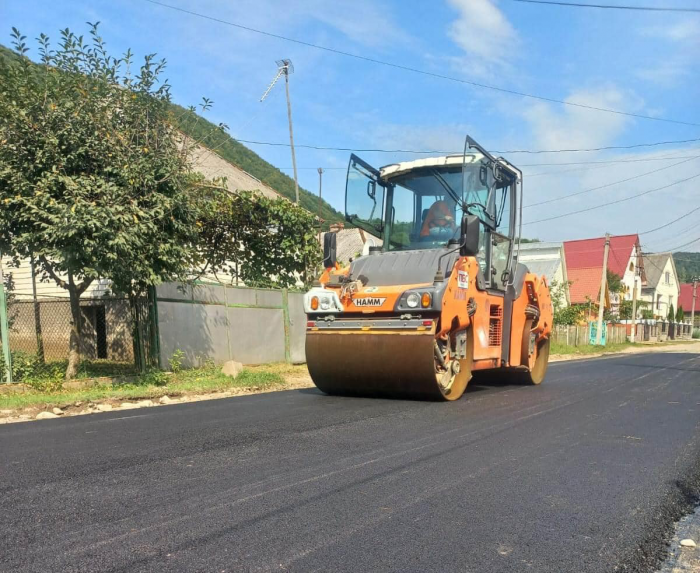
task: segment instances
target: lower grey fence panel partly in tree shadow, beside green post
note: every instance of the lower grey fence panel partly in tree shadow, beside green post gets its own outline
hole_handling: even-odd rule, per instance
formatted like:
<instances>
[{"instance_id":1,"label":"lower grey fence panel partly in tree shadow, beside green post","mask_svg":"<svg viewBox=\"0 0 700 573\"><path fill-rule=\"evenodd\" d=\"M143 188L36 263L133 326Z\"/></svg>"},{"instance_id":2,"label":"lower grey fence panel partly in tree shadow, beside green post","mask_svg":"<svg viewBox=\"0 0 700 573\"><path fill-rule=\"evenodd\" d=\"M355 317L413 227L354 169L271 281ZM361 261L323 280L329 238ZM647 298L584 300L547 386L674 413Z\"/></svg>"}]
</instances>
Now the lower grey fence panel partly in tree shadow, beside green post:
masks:
<instances>
[{"instance_id":1,"label":"lower grey fence panel partly in tree shadow, beside green post","mask_svg":"<svg viewBox=\"0 0 700 573\"><path fill-rule=\"evenodd\" d=\"M185 367L229 360L226 307L159 301L158 323L163 367L176 350L185 353Z\"/></svg>"}]
</instances>

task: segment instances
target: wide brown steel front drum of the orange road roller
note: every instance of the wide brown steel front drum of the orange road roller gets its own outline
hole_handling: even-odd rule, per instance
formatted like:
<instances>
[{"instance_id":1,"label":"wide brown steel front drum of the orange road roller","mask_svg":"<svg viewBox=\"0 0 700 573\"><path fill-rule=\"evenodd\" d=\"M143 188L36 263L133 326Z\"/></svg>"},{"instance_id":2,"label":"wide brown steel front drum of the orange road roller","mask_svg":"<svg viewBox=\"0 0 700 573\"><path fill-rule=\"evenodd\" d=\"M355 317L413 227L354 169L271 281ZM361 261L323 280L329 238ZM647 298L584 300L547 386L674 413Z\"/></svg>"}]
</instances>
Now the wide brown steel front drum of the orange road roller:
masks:
<instances>
[{"instance_id":1,"label":"wide brown steel front drum of the orange road roller","mask_svg":"<svg viewBox=\"0 0 700 573\"><path fill-rule=\"evenodd\" d=\"M449 386L436 376L433 334L308 332L311 379L327 394L454 400L471 377L470 365Z\"/></svg>"}]
</instances>

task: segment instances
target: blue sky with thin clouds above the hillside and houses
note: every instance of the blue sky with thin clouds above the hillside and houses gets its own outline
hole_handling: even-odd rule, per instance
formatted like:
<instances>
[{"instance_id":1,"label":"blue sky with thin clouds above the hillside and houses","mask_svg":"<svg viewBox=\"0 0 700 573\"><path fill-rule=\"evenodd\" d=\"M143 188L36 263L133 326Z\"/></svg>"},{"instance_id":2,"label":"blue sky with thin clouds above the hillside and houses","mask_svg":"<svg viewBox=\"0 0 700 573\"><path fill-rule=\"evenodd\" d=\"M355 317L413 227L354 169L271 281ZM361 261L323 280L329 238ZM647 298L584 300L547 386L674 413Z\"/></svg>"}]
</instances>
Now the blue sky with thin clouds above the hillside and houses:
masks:
<instances>
[{"instance_id":1,"label":"blue sky with thin clouds above the hillside and houses","mask_svg":"<svg viewBox=\"0 0 700 573\"><path fill-rule=\"evenodd\" d=\"M700 124L700 15L559 8L511 0L165 0L307 42L519 92ZM635 0L636 1L636 0ZM688 0L689 1L689 0ZM610 0L615 3L615 0ZM621 2L622 3L622 2ZM629 3L629 2L627 2ZM641 4L641 2L640 2ZM677 5L680 0L645 0ZM354 149L458 150L469 133L489 149L562 149L700 138L700 127L650 121L503 94L347 58L183 14L145 0L3 0L11 26L57 39L100 21L113 54L157 52L177 103L212 99L207 118L234 137L288 142L283 86L259 99L290 58L295 141ZM36 55L35 44L33 55ZM287 147L251 145L280 168ZM414 155L360 153L381 166ZM700 144L632 151L506 157L525 172L525 204L646 177L525 209L526 222L622 199L700 174ZM349 153L299 148L300 184L342 210ZM677 159L673 159L676 157ZM541 165L620 161L586 165ZM634 160L634 161L631 161ZM639 160L639 161L638 161ZM682 163L681 163L682 162ZM673 166L675 165L675 166ZM673 167L671 167L673 166ZM287 170L291 175L291 169ZM700 177L605 209L525 226L543 240L643 232L700 207ZM700 237L700 211L642 235L650 251ZM700 241L684 250L700 250Z\"/></svg>"}]
</instances>

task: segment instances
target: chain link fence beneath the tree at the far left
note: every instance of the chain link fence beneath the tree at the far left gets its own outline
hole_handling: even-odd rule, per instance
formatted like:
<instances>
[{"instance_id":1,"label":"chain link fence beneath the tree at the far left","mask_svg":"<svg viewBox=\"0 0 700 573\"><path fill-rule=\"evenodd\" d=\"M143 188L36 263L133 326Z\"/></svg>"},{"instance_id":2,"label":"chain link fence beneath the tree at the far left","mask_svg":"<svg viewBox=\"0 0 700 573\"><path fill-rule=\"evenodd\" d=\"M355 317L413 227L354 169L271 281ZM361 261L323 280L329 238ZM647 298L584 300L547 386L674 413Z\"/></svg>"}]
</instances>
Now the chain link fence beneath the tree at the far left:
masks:
<instances>
[{"instance_id":1,"label":"chain link fence beneath the tree at the far left","mask_svg":"<svg viewBox=\"0 0 700 573\"><path fill-rule=\"evenodd\" d=\"M81 300L78 378L135 375L156 366L157 327L153 317L148 298ZM12 382L60 382L68 365L70 301L63 297L10 300L7 322ZM0 367L0 383L6 378L6 368Z\"/></svg>"}]
</instances>

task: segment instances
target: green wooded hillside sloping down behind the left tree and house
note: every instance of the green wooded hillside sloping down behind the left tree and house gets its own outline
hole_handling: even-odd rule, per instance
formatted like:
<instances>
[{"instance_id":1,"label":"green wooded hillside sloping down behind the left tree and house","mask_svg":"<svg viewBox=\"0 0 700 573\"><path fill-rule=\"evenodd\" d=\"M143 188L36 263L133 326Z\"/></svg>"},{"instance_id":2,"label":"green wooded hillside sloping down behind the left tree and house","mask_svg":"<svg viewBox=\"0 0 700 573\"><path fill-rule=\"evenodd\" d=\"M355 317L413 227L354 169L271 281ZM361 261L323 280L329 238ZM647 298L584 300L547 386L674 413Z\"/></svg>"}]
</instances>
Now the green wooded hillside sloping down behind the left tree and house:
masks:
<instances>
[{"instance_id":1,"label":"green wooded hillside sloping down behind the left tree and house","mask_svg":"<svg viewBox=\"0 0 700 573\"><path fill-rule=\"evenodd\" d=\"M19 56L12 50L0 45L0 59L16 61ZM294 180L282 173L274 165L262 159L257 153L238 143L230 135L222 132L213 123L201 116L186 111L183 107L172 104L173 117L178 128L196 141L215 150L223 159L260 179L280 195L294 201ZM304 209L318 214L318 195L299 188L299 203ZM326 201L321 203L321 218L327 227L330 223L343 220L343 214L336 211Z\"/></svg>"}]
</instances>

